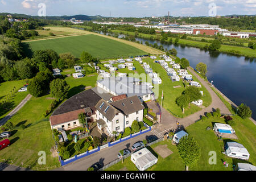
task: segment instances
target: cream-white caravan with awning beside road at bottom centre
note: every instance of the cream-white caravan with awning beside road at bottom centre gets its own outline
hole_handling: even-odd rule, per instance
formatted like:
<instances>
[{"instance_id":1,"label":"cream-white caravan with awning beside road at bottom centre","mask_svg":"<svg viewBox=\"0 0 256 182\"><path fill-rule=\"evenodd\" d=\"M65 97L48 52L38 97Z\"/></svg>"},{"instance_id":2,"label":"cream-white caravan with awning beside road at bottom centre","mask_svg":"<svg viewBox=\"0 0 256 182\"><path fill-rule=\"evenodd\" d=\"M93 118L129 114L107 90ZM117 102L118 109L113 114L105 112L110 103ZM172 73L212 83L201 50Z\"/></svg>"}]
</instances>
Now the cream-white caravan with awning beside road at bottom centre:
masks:
<instances>
[{"instance_id":1,"label":"cream-white caravan with awning beside road at bottom centre","mask_svg":"<svg viewBox=\"0 0 256 182\"><path fill-rule=\"evenodd\" d=\"M147 148L142 148L131 154L131 162L135 164L139 171L144 171L156 164L158 158L156 158Z\"/></svg>"}]
</instances>

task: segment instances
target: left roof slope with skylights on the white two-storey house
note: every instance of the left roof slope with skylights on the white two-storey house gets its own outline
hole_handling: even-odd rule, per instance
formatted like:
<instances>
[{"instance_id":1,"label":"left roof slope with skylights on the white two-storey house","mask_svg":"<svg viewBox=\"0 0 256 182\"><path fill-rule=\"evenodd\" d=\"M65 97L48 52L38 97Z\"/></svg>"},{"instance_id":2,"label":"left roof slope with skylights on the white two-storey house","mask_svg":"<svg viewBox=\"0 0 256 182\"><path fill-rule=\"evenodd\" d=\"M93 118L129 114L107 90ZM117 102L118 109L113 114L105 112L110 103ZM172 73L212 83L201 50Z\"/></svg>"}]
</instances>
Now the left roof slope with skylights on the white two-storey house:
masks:
<instances>
[{"instance_id":1,"label":"left roof slope with skylights on the white two-storey house","mask_svg":"<svg viewBox=\"0 0 256 182\"><path fill-rule=\"evenodd\" d=\"M116 114L120 113L119 110L115 109L112 105L110 105L105 100L101 99L96 104L96 109L104 115L109 121L112 121Z\"/></svg>"}]
</instances>

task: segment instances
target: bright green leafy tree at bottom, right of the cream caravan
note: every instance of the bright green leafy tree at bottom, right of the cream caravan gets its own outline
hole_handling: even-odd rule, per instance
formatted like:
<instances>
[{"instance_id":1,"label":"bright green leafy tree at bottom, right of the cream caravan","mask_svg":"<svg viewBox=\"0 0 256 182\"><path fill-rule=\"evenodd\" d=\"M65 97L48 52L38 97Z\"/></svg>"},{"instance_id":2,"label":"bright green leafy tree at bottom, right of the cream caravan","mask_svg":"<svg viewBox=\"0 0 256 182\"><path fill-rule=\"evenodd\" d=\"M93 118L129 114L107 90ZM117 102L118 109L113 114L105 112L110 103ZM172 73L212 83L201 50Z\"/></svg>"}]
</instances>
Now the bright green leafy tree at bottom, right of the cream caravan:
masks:
<instances>
[{"instance_id":1,"label":"bright green leafy tree at bottom, right of the cream caravan","mask_svg":"<svg viewBox=\"0 0 256 182\"><path fill-rule=\"evenodd\" d=\"M179 152L180 158L183 160L183 163L186 166L187 171L188 167L193 166L196 164L197 160L200 159L201 148L191 135L185 136L179 140L179 144L177 144L177 150Z\"/></svg>"}]
</instances>

